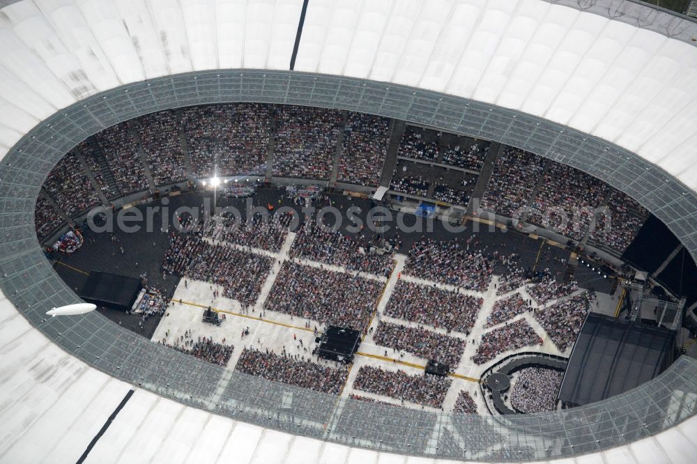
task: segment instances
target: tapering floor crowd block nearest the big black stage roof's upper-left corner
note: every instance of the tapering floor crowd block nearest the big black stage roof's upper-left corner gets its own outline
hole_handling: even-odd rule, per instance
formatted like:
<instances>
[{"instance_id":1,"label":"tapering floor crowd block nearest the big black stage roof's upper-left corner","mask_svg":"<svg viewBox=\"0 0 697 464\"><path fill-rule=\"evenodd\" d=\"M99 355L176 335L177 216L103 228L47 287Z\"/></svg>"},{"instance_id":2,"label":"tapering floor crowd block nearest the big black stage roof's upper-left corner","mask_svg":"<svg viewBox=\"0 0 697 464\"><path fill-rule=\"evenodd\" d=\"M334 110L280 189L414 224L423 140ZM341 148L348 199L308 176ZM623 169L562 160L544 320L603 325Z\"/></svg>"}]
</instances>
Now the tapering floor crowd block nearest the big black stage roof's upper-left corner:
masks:
<instances>
[{"instance_id":1,"label":"tapering floor crowd block nearest the big black stage roof's upper-left corner","mask_svg":"<svg viewBox=\"0 0 697 464\"><path fill-rule=\"evenodd\" d=\"M582 293L533 312L539 325L560 351L565 351L576 341L585 315L590 310L591 299L591 295Z\"/></svg>"}]
</instances>

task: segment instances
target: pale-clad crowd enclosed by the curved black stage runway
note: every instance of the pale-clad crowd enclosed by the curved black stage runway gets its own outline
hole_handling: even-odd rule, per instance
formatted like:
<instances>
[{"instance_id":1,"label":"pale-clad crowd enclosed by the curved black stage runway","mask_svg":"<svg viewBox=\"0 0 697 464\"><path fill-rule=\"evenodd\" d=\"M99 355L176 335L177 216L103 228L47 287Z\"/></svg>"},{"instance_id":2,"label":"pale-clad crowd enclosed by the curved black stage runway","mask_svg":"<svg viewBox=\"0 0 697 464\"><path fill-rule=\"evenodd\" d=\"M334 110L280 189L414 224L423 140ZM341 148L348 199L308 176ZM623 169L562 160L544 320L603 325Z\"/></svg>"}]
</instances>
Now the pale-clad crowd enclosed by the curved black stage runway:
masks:
<instances>
[{"instance_id":1,"label":"pale-clad crowd enclosed by the curved black stage runway","mask_svg":"<svg viewBox=\"0 0 697 464\"><path fill-rule=\"evenodd\" d=\"M554 369L522 369L516 373L511 389L511 405L524 414L556 410L563 378L564 373Z\"/></svg>"}]
</instances>

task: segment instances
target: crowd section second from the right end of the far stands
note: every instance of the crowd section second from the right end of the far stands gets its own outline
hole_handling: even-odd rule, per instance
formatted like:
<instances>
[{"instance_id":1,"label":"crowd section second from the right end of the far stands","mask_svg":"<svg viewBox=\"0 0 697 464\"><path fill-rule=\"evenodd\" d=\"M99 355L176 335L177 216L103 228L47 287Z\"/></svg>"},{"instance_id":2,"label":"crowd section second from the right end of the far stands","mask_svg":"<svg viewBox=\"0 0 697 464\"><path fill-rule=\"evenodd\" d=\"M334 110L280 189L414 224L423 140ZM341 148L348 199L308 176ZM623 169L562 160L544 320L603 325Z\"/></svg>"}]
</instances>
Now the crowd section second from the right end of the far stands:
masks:
<instances>
[{"instance_id":1,"label":"crowd section second from the right end of the far stands","mask_svg":"<svg viewBox=\"0 0 697 464\"><path fill-rule=\"evenodd\" d=\"M553 162L544 173L528 221L581 240L605 194L602 180Z\"/></svg>"}]
</instances>

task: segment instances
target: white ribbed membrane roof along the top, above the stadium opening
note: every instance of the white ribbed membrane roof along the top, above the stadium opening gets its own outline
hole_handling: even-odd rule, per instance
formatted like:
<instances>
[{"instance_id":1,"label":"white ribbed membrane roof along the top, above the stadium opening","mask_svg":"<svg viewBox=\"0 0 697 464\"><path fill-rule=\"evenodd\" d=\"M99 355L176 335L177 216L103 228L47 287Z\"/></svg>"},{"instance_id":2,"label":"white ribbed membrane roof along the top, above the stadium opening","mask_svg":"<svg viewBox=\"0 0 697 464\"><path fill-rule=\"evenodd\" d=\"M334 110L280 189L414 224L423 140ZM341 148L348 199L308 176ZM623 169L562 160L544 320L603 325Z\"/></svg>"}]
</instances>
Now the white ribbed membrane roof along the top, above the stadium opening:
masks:
<instances>
[{"instance_id":1,"label":"white ribbed membrane roof along the top, above the stadium opening","mask_svg":"<svg viewBox=\"0 0 697 464\"><path fill-rule=\"evenodd\" d=\"M288 69L301 9L302 0L12 3L0 15L0 154L58 109L115 86ZM295 70L523 111L697 188L697 47L595 13L542 0L312 0Z\"/></svg>"}]
</instances>

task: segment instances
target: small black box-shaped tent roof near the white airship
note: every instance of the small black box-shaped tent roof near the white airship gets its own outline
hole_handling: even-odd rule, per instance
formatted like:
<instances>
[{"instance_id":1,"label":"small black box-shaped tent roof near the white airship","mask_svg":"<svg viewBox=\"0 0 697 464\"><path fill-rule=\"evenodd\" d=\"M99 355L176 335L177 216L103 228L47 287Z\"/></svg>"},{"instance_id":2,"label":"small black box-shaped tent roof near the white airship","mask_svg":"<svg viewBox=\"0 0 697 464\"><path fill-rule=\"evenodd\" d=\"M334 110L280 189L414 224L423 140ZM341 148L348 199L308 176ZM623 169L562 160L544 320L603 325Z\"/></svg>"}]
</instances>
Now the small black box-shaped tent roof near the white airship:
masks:
<instances>
[{"instance_id":1,"label":"small black box-shaped tent roof near the white airship","mask_svg":"<svg viewBox=\"0 0 697 464\"><path fill-rule=\"evenodd\" d=\"M140 279L91 270L80 297L98 306L128 311L140 292Z\"/></svg>"}]
</instances>

